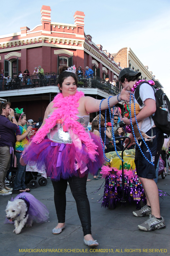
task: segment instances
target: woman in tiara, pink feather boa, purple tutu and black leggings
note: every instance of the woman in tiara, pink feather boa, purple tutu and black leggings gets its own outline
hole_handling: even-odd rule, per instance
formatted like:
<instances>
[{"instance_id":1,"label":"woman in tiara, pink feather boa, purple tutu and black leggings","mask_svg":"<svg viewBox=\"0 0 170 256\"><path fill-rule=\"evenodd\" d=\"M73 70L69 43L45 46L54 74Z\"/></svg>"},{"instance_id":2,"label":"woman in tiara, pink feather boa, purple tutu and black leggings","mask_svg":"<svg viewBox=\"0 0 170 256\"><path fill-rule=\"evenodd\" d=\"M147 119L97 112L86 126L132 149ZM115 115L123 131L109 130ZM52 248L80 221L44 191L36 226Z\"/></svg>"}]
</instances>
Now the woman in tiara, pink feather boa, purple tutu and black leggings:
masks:
<instances>
[{"instance_id":1,"label":"woman in tiara, pink feather boa, purple tutu and black leggings","mask_svg":"<svg viewBox=\"0 0 170 256\"><path fill-rule=\"evenodd\" d=\"M84 96L77 91L77 76L60 67L57 84L60 93L48 105L41 128L26 148L23 160L37 168L45 166L47 176L51 177L54 187L54 201L58 224L53 234L59 234L65 228L66 189L69 182L76 200L81 220L84 243L98 246L91 233L90 205L86 194L88 172L93 175L104 162L103 151L98 136L87 131L89 113L99 111L100 100ZM129 92L122 92L109 99L110 106L121 100L129 100ZM108 108L107 99L101 103L101 109Z\"/></svg>"}]
</instances>

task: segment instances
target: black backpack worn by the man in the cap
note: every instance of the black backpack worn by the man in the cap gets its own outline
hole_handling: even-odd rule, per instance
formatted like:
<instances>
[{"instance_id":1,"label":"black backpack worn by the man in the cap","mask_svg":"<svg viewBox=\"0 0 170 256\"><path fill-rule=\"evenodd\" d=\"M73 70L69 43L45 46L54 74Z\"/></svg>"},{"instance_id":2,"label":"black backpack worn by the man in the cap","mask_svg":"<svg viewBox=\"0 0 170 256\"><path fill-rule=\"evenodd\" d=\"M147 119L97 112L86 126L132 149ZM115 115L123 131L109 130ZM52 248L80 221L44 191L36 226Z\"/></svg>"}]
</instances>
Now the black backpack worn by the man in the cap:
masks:
<instances>
[{"instance_id":1,"label":"black backpack worn by the man in the cap","mask_svg":"<svg viewBox=\"0 0 170 256\"><path fill-rule=\"evenodd\" d=\"M142 107L143 102L139 95L139 89L141 84L146 83L149 84L147 81L141 82L136 90L135 90L135 99L137 100L138 104ZM150 85L150 84L149 84ZM152 86L152 85L150 85ZM161 90L157 90L157 86L152 86L154 93L155 93L155 99L156 99L156 112L154 115L152 115L152 119L157 127L166 134L170 133L170 102L166 94ZM161 107L162 105L165 105L167 110L163 110Z\"/></svg>"}]
</instances>

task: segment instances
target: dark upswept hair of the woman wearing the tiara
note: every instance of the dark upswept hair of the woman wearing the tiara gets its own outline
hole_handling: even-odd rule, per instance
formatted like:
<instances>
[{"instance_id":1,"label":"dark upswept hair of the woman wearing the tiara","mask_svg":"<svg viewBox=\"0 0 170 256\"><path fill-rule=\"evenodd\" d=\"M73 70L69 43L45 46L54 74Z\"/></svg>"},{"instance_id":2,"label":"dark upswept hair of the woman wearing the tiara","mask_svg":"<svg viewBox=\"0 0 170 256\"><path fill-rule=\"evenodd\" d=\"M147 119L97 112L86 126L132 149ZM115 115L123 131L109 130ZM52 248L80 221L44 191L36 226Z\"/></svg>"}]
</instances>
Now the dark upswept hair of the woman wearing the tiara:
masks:
<instances>
[{"instance_id":1,"label":"dark upswept hair of the woman wearing the tiara","mask_svg":"<svg viewBox=\"0 0 170 256\"><path fill-rule=\"evenodd\" d=\"M77 76L76 74L72 73L72 72L67 72L65 70L67 70L68 66L64 65L64 66L60 66L58 68L58 71L59 71L59 76L57 77L57 84L60 84L60 88L62 88L62 84L64 82L64 79L69 77L69 76L72 76L75 80L75 83L76 83L76 86L78 86L78 81L77 81ZM65 71L65 72L64 72ZM59 88L59 89L60 89ZM62 90L60 90L60 92L62 92Z\"/></svg>"}]
</instances>

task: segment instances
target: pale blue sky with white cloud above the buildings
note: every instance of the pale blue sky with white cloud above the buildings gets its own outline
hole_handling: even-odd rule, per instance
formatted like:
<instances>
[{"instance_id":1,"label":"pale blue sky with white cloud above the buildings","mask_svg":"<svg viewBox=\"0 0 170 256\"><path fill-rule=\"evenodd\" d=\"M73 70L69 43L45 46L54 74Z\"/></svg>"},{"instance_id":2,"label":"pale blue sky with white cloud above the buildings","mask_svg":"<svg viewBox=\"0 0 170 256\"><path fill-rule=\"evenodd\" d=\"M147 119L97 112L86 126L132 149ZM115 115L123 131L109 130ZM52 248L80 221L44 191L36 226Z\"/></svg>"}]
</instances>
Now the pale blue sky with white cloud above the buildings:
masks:
<instances>
[{"instance_id":1,"label":"pale blue sky with white cloud above the buildings","mask_svg":"<svg viewBox=\"0 0 170 256\"><path fill-rule=\"evenodd\" d=\"M51 7L51 21L74 24L74 13L85 13L85 33L103 50L116 53L130 47L170 99L170 1L70 1L29 0L1 3L0 35L32 29L41 24L41 6Z\"/></svg>"}]
</instances>

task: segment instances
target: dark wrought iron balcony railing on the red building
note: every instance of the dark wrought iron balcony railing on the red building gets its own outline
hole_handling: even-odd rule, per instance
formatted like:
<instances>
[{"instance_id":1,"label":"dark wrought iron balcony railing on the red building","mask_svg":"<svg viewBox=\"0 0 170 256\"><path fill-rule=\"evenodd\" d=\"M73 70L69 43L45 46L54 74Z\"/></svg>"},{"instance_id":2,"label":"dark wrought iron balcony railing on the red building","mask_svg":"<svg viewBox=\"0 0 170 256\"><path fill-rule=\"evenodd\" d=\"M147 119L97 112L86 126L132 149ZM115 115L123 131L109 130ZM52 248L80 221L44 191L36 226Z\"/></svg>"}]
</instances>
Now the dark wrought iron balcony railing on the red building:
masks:
<instances>
[{"instance_id":1,"label":"dark wrought iron balcony railing on the red building","mask_svg":"<svg viewBox=\"0 0 170 256\"><path fill-rule=\"evenodd\" d=\"M44 75L31 75L0 79L0 91L18 90L32 87L57 86L58 73L47 72ZM99 76L78 76L78 87L99 88L104 92L117 95L120 89Z\"/></svg>"}]
</instances>

